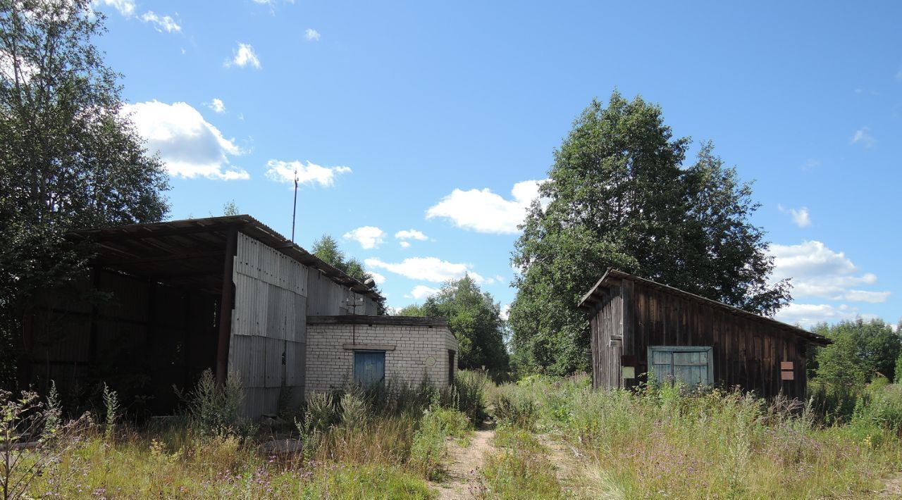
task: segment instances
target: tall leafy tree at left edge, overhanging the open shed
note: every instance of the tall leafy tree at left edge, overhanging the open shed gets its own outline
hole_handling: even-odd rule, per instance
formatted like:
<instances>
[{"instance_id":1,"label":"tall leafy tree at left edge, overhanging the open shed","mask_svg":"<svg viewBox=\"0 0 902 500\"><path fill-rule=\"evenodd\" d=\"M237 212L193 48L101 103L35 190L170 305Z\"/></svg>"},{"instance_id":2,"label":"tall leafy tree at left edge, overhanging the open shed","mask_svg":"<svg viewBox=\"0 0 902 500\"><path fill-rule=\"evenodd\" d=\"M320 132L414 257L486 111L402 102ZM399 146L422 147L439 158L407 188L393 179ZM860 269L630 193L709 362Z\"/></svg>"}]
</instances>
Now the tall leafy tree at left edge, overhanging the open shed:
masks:
<instances>
[{"instance_id":1,"label":"tall leafy tree at left edge, overhanging the open shed","mask_svg":"<svg viewBox=\"0 0 902 500\"><path fill-rule=\"evenodd\" d=\"M32 295L85 255L73 229L159 221L168 176L121 113L88 0L0 0L0 328L16 346ZM22 347L21 345L17 347ZM8 366L8 363L6 363Z\"/></svg>"}]
</instances>

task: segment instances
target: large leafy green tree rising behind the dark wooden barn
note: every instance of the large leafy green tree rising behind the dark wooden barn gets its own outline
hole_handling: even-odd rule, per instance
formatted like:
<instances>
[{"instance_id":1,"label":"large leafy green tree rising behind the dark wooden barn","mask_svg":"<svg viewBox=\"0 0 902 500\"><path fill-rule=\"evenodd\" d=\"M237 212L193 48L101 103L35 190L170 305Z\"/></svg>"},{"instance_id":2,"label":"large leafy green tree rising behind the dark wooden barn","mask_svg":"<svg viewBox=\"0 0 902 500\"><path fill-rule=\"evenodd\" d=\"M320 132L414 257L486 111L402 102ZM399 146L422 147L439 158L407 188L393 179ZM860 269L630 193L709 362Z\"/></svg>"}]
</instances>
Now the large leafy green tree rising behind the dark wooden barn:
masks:
<instances>
[{"instance_id":1,"label":"large leafy green tree rising behind the dark wooden barn","mask_svg":"<svg viewBox=\"0 0 902 500\"><path fill-rule=\"evenodd\" d=\"M658 105L616 91L573 125L530 206L512 264L512 344L526 368L588 368L588 320L576 304L607 268L772 314L789 300L773 268L758 205L735 168L704 143L686 165Z\"/></svg>"}]
</instances>

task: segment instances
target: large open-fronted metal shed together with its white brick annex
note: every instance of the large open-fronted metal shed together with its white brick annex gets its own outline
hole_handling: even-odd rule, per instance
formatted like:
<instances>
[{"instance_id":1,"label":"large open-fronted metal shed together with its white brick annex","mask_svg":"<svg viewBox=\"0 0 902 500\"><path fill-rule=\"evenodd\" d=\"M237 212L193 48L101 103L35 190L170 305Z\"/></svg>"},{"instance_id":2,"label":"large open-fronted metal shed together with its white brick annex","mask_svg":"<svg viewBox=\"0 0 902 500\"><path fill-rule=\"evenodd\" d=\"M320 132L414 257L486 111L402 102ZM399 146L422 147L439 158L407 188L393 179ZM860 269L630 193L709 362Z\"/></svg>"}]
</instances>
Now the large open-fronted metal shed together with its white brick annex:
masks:
<instances>
[{"instance_id":1,"label":"large open-fronted metal shed together with its white brick annex","mask_svg":"<svg viewBox=\"0 0 902 500\"><path fill-rule=\"evenodd\" d=\"M335 386L361 380L358 358L382 361L365 365L368 379L402 367L412 380L433 370L443 377L431 380L450 382L447 365L455 358L449 361L448 352L457 348L446 323L424 318L411 330L397 324L402 318L382 319L376 315L382 296L370 286L249 215L70 237L96 254L90 278L39 297L25 318L23 386L45 388L54 380L63 394L84 397L106 382L136 412L167 414L178 404L173 386L193 386L205 369L220 383L235 372L244 385L243 412L256 417L275 413L280 401L299 405L308 379ZM324 322L350 339L324 349L308 335ZM426 340L441 350L425 353ZM433 366L426 366L430 355Z\"/></svg>"}]
</instances>

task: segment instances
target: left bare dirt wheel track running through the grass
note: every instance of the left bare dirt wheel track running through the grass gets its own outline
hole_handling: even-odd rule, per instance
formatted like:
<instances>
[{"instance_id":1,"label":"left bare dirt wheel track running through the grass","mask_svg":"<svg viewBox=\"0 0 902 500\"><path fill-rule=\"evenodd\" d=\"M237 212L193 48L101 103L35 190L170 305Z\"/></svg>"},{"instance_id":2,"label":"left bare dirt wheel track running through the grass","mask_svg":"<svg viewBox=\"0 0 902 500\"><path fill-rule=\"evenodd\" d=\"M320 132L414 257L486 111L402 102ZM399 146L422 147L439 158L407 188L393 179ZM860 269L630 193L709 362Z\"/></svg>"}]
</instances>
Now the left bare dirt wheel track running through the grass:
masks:
<instances>
[{"instance_id":1,"label":"left bare dirt wheel track running through the grass","mask_svg":"<svg viewBox=\"0 0 902 500\"><path fill-rule=\"evenodd\" d=\"M483 425L482 430L474 432L470 446L466 448L449 438L448 476L441 483L432 483L438 491L439 498L462 500L475 497L480 487L479 470L483 468L486 455L494 450L492 445L494 437L494 427Z\"/></svg>"}]
</instances>

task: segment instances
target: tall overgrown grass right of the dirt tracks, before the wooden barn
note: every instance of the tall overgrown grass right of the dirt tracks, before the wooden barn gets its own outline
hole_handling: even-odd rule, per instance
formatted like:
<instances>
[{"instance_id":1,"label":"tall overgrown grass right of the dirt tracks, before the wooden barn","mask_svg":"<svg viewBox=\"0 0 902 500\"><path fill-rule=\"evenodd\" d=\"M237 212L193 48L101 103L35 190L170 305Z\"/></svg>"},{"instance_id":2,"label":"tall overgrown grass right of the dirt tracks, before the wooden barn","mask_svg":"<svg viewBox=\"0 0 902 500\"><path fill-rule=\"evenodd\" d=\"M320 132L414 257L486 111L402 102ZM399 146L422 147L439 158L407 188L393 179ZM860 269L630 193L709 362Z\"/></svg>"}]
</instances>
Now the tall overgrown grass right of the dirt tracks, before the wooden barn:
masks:
<instances>
[{"instance_id":1,"label":"tall overgrown grass right of the dirt tracks, before the wooden barn","mask_svg":"<svg viewBox=\"0 0 902 500\"><path fill-rule=\"evenodd\" d=\"M569 441L591 460L601 496L861 496L902 465L898 386L872 389L847 423L831 425L811 402L667 386L593 391L584 376L530 377L498 391L499 418Z\"/></svg>"}]
</instances>

